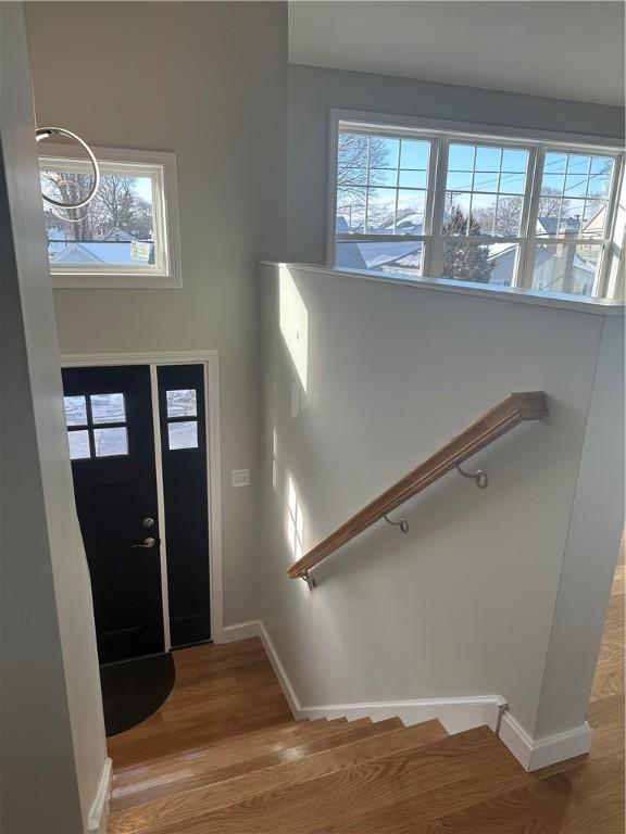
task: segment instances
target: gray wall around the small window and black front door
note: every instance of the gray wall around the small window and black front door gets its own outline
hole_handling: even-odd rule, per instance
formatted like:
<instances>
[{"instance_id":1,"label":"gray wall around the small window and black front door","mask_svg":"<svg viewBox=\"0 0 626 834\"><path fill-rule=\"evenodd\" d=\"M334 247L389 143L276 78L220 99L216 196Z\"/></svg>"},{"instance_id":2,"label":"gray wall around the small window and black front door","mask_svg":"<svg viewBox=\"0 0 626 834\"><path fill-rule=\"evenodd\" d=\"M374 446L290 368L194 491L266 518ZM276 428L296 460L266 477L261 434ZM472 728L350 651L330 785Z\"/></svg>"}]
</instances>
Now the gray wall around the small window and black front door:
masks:
<instances>
[{"instance_id":1,"label":"gray wall around the small window and black front door","mask_svg":"<svg viewBox=\"0 0 626 834\"><path fill-rule=\"evenodd\" d=\"M61 351L220 352L226 623L255 616L255 262L285 256L284 3L28 3L40 125L174 151L181 290L58 290ZM61 46L60 46L61 45ZM251 468L252 485L230 485Z\"/></svg>"}]
</instances>

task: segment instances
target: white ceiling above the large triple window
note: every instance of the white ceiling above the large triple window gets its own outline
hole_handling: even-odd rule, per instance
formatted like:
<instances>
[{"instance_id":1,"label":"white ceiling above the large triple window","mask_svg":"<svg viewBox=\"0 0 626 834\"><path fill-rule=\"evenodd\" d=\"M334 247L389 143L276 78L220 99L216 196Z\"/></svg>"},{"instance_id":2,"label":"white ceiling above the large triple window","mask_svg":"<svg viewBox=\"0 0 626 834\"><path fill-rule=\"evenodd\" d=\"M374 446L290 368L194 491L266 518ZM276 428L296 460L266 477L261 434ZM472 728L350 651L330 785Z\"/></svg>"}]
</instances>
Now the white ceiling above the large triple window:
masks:
<instances>
[{"instance_id":1,"label":"white ceiling above the large triple window","mask_svg":"<svg viewBox=\"0 0 626 834\"><path fill-rule=\"evenodd\" d=\"M624 104L624 2L291 1L289 60Z\"/></svg>"}]
</instances>

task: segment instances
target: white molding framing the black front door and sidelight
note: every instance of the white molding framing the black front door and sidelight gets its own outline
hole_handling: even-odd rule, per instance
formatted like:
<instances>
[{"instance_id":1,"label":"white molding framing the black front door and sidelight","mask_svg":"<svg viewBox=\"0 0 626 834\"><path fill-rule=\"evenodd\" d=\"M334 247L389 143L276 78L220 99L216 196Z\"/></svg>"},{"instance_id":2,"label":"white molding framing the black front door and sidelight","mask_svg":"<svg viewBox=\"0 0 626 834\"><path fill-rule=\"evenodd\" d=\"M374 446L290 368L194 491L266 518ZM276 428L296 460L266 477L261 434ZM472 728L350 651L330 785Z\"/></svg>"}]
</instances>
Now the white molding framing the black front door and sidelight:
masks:
<instances>
[{"instance_id":1,"label":"white molding framing the black front door and sidelight","mask_svg":"<svg viewBox=\"0 0 626 834\"><path fill-rule=\"evenodd\" d=\"M161 542L161 590L163 597L163 637L165 650L172 648L170 640L170 606L167 595L167 563L165 547L165 518L163 504L163 462L161 457L161 427L159 397L156 396L156 366L202 365L204 368L204 413L206 432L206 483L209 498L209 599L211 605L211 639L224 640L224 589L222 566L222 467L220 452L220 363L217 351L168 351L165 353L64 353L62 368L107 367L113 365L148 365L152 391L154 421L154 463L159 498L159 527Z\"/></svg>"}]
</instances>

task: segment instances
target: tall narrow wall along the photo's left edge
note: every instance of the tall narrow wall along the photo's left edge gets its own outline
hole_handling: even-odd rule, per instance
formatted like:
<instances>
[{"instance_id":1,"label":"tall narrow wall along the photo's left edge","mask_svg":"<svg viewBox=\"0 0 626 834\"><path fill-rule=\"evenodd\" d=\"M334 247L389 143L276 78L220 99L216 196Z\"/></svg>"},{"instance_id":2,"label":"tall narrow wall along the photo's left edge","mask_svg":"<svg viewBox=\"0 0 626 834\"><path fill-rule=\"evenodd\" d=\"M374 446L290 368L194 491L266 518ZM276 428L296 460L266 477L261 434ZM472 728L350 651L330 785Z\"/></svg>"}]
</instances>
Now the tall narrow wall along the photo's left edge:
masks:
<instances>
[{"instance_id":1,"label":"tall narrow wall along the photo's left edge","mask_svg":"<svg viewBox=\"0 0 626 834\"><path fill-rule=\"evenodd\" d=\"M78 834L107 761L18 3L0 7L0 827Z\"/></svg>"}]
</instances>

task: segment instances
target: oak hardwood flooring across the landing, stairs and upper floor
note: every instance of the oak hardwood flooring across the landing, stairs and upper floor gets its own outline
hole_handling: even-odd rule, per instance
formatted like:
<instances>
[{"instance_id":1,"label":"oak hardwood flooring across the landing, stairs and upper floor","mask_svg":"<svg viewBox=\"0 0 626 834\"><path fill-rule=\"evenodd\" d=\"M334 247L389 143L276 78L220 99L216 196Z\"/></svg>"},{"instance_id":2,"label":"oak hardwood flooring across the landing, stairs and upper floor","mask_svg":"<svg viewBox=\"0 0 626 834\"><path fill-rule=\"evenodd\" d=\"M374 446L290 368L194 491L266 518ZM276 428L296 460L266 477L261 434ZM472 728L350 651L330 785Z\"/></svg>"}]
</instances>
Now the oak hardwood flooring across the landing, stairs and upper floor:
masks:
<instances>
[{"instance_id":1,"label":"oak hardwood flooring across the landing, stairs and upper floor","mask_svg":"<svg viewBox=\"0 0 626 834\"><path fill-rule=\"evenodd\" d=\"M163 707L110 740L110 832L624 834L624 599L622 554L591 754L533 774L487 728L296 722L258 640L177 652Z\"/></svg>"}]
</instances>

